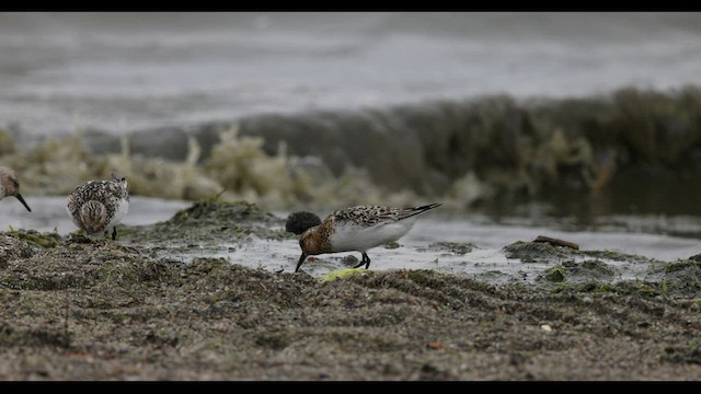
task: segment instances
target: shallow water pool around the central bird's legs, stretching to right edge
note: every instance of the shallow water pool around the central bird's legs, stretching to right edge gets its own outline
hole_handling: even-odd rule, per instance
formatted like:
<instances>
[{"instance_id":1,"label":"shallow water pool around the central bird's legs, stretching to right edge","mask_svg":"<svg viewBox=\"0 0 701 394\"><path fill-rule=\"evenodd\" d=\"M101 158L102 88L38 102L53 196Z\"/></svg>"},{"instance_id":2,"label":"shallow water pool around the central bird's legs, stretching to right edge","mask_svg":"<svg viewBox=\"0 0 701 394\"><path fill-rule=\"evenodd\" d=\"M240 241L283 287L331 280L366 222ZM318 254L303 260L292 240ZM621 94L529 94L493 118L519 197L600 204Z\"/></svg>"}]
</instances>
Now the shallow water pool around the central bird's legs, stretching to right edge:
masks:
<instances>
[{"instance_id":1,"label":"shallow water pool around the central bird's legs, stretching to right edge","mask_svg":"<svg viewBox=\"0 0 701 394\"><path fill-rule=\"evenodd\" d=\"M688 258L701 252L701 240L680 239L644 233L564 232L544 228L513 225L481 225L464 221L446 223L430 219L422 220L399 241L400 247L379 246L368 252L370 269L437 269L458 275L475 275L489 282L501 282L517 277L532 280L532 273L542 273L552 267L549 263L521 263L506 257L504 246L517 241L532 241L538 235L548 235L575 242L583 251L612 251L636 254L663 262ZM471 243L472 252L459 255L428 247L437 242ZM196 257L225 257L235 264L263 267L268 270L294 271L300 250L297 240L268 241L251 236L240 244L219 245L211 253L208 248L192 247L183 251L187 259ZM323 276L333 270L348 268L344 257L359 253L336 253L309 258L302 269L312 276ZM585 258L575 258L582 262ZM354 264L356 260L354 260ZM636 269L630 263L606 260L621 268L619 279L635 277ZM637 268L641 268L640 266Z\"/></svg>"}]
</instances>

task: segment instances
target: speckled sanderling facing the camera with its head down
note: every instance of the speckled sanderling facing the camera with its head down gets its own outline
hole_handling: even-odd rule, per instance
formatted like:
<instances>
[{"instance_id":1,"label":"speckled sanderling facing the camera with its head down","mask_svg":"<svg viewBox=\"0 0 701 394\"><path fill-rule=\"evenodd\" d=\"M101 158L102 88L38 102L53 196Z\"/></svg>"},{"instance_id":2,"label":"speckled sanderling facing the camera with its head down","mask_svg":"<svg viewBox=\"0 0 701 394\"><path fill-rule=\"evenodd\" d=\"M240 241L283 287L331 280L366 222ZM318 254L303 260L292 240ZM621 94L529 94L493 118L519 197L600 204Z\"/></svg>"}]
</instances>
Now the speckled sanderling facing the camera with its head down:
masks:
<instances>
[{"instance_id":1,"label":"speckled sanderling facing the camera with its head down","mask_svg":"<svg viewBox=\"0 0 701 394\"><path fill-rule=\"evenodd\" d=\"M108 181L89 181L68 196L66 209L73 223L88 235L107 234L117 237L117 224L129 210L126 178L112 175Z\"/></svg>"}]
</instances>

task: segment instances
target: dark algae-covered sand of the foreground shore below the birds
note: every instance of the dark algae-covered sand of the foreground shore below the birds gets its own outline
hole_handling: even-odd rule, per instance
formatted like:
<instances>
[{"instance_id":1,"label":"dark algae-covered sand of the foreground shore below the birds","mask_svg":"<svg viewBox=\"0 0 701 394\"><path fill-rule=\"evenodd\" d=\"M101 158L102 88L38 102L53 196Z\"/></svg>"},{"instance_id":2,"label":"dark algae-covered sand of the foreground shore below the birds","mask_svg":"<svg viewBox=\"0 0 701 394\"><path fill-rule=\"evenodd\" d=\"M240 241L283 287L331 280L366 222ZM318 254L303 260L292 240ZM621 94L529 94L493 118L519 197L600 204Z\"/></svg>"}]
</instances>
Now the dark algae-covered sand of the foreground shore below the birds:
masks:
<instances>
[{"instance_id":1,"label":"dark algae-covered sand of the foreground shore below the birds","mask_svg":"<svg viewBox=\"0 0 701 394\"><path fill-rule=\"evenodd\" d=\"M203 201L122 228L118 242L0 234L0 379L701 378L696 257L522 242L505 253L547 268L493 285L374 267L317 278L160 253L175 239L294 242L283 222L253 205ZM471 250L460 252L469 262ZM617 260L642 274L616 280Z\"/></svg>"}]
</instances>

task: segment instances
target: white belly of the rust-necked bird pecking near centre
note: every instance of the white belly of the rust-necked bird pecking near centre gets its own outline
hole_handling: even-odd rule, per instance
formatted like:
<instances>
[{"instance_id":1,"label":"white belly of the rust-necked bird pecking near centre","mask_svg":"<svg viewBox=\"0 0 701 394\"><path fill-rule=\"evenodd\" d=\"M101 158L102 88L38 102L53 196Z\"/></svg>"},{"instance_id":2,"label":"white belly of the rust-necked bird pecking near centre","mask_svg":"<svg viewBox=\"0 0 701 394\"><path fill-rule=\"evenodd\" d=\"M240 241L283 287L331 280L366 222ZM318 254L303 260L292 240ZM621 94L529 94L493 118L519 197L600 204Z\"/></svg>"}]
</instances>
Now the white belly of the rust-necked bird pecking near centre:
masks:
<instances>
[{"instance_id":1,"label":"white belly of the rust-necked bird pecking near centre","mask_svg":"<svg viewBox=\"0 0 701 394\"><path fill-rule=\"evenodd\" d=\"M333 252L365 252L371 247L397 241L411 230L415 220L381 223L365 228L356 224L344 224L331 235Z\"/></svg>"}]
</instances>

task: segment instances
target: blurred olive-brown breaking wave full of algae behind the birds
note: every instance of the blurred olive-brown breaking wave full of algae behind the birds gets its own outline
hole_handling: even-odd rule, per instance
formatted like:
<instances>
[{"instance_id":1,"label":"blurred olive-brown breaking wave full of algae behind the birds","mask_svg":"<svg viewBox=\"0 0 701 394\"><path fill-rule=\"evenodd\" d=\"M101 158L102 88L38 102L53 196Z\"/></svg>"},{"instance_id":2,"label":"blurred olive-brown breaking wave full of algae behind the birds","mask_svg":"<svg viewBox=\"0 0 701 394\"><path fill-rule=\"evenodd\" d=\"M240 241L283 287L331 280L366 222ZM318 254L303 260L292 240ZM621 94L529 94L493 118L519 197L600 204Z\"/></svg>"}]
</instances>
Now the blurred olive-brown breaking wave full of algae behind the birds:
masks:
<instances>
[{"instance_id":1,"label":"blurred olive-brown breaking wave full of algae behind the birds","mask_svg":"<svg viewBox=\"0 0 701 394\"><path fill-rule=\"evenodd\" d=\"M631 88L585 99L255 115L125 137L92 130L26 149L2 130L0 158L27 195L67 195L116 171L134 195L219 196L266 209L440 200L471 210L543 200L577 211L589 200L609 211L701 213L700 142L699 88Z\"/></svg>"}]
</instances>

